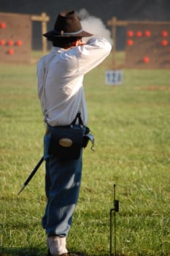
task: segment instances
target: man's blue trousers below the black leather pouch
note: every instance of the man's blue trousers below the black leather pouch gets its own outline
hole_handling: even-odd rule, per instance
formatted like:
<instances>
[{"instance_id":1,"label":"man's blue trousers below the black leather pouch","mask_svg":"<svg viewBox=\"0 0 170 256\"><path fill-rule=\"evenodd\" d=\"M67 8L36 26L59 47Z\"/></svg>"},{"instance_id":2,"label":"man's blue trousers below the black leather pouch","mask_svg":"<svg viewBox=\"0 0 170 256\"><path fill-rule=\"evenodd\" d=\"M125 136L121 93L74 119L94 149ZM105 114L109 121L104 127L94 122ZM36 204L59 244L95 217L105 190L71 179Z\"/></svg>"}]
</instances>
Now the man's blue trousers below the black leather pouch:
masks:
<instances>
[{"instance_id":1,"label":"man's blue trousers below the black leather pouch","mask_svg":"<svg viewBox=\"0 0 170 256\"><path fill-rule=\"evenodd\" d=\"M48 236L67 236L80 192L82 152L76 160L61 161L50 157L46 161L45 192L47 206L42 227Z\"/></svg>"}]
</instances>

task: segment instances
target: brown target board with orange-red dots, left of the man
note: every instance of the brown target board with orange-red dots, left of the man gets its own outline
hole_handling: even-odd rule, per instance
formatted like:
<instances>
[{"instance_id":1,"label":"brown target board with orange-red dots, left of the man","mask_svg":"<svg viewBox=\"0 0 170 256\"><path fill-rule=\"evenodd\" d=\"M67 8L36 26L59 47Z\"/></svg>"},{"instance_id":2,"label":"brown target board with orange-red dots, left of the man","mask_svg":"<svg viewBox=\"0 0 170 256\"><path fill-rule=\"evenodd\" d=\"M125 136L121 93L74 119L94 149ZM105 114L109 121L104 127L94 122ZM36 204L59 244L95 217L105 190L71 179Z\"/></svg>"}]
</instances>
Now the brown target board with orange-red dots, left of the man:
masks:
<instances>
[{"instance_id":1,"label":"brown target board with orange-red dots, left of the man","mask_svg":"<svg viewBox=\"0 0 170 256\"><path fill-rule=\"evenodd\" d=\"M0 12L0 62L31 61L31 15Z\"/></svg>"}]
</instances>

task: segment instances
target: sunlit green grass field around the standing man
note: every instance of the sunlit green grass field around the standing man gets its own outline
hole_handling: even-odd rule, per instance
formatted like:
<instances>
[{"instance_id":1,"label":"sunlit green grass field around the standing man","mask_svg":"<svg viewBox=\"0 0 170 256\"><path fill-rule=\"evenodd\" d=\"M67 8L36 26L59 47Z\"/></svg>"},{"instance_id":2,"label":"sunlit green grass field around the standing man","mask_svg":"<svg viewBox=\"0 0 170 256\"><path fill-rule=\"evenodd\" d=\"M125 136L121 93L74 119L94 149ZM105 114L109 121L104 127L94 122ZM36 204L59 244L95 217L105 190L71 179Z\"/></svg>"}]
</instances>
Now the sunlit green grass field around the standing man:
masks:
<instances>
[{"instance_id":1,"label":"sunlit green grass field around the standing man","mask_svg":"<svg viewBox=\"0 0 170 256\"><path fill-rule=\"evenodd\" d=\"M109 255L116 184L117 255L170 255L170 72L123 69L123 86L106 86L110 65L108 58L85 77L96 151L84 151L68 248ZM42 157L36 64L0 64L0 80L0 255L45 256L44 164L17 196Z\"/></svg>"}]
</instances>

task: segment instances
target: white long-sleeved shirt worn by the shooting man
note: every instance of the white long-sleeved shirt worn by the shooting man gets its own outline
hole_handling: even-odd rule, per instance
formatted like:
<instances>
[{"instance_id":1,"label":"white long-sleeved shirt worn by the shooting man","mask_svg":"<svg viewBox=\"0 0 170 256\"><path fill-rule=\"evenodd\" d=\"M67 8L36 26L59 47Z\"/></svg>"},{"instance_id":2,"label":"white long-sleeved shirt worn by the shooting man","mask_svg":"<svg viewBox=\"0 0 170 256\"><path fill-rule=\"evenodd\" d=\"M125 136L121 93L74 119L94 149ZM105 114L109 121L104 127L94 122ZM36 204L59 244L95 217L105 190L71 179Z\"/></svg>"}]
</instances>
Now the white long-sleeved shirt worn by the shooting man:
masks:
<instances>
[{"instance_id":1,"label":"white long-sleeved shirt worn by the shooting man","mask_svg":"<svg viewBox=\"0 0 170 256\"><path fill-rule=\"evenodd\" d=\"M83 77L104 61L111 49L107 39L93 37L87 44L69 50L53 47L47 56L39 60L38 95L47 124L71 124L80 111L83 124L87 125Z\"/></svg>"}]
</instances>

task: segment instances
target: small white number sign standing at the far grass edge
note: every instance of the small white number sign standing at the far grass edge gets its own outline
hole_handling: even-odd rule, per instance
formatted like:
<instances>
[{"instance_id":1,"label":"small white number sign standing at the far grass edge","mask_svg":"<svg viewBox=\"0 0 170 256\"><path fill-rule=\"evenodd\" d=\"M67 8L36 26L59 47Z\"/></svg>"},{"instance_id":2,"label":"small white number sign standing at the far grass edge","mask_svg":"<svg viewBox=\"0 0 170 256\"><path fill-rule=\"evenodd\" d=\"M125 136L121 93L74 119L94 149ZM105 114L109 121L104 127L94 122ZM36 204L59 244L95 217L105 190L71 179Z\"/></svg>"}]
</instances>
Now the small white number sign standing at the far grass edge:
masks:
<instances>
[{"instance_id":1,"label":"small white number sign standing at the far grass edge","mask_svg":"<svg viewBox=\"0 0 170 256\"><path fill-rule=\"evenodd\" d=\"M105 72L105 84L108 86L119 86L123 84L122 70L107 70Z\"/></svg>"}]
</instances>

